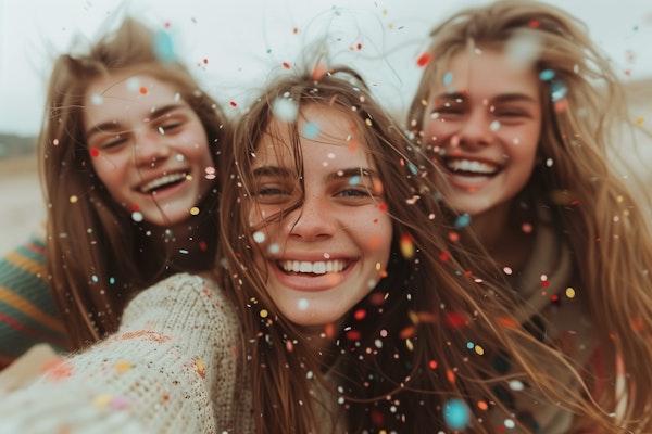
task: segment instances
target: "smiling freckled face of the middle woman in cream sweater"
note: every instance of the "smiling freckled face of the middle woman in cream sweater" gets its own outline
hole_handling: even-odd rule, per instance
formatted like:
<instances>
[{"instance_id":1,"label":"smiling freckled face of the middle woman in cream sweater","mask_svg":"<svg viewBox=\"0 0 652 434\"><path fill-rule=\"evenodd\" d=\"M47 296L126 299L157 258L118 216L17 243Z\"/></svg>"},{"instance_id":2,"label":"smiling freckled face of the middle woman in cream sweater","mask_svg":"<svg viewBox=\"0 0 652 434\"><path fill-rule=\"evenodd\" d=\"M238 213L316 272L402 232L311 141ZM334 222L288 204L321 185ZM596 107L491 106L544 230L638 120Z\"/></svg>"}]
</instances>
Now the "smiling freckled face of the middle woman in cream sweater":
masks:
<instances>
[{"instance_id":1,"label":"smiling freckled face of the middle woman in cream sweater","mask_svg":"<svg viewBox=\"0 0 652 434\"><path fill-rule=\"evenodd\" d=\"M255 152L250 221L262 228L252 238L269 296L290 321L319 327L340 320L380 280L392 227L367 146L349 141L355 137L349 116L314 105L302 115L304 191L289 127L272 120ZM278 213L280 220L271 218Z\"/></svg>"}]
</instances>

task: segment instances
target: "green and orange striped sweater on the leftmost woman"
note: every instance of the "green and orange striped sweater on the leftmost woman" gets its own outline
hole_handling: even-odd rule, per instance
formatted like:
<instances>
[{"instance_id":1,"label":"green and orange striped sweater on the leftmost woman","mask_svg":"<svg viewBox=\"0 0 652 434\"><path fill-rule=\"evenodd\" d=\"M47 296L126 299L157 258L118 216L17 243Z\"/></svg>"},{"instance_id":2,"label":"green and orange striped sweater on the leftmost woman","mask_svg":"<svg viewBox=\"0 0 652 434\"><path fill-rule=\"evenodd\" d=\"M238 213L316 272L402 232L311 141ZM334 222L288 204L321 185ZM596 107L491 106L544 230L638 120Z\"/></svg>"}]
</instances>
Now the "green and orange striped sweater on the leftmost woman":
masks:
<instances>
[{"instance_id":1,"label":"green and orange striped sweater on the leftmost woman","mask_svg":"<svg viewBox=\"0 0 652 434\"><path fill-rule=\"evenodd\" d=\"M42 230L0 258L0 369L38 343L66 347L47 276Z\"/></svg>"}]
</instances>

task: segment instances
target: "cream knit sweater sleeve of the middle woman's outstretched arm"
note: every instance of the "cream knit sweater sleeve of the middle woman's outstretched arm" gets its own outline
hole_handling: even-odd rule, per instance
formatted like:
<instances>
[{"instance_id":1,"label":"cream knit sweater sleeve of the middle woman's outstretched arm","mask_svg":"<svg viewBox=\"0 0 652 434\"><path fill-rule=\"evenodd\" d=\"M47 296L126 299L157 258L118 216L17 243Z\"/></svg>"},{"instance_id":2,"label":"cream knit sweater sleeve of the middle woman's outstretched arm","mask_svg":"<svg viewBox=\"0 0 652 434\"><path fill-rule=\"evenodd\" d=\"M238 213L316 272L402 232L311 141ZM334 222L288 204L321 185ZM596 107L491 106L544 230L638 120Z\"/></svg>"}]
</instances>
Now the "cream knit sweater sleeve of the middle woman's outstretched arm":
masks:
<instances>
[{"instance_id":1,"label":"cream knit sweater sleeve of the middle woman's outstretched arm","mask_svg":"<svg viewBox=\"0 0 652 434\"><path fill-rule=\"evenodd\" d=\"M0 400L0 433L251 433L238 323L209 277L173 276L115 335Z\"/></svg>"}]
</instances>

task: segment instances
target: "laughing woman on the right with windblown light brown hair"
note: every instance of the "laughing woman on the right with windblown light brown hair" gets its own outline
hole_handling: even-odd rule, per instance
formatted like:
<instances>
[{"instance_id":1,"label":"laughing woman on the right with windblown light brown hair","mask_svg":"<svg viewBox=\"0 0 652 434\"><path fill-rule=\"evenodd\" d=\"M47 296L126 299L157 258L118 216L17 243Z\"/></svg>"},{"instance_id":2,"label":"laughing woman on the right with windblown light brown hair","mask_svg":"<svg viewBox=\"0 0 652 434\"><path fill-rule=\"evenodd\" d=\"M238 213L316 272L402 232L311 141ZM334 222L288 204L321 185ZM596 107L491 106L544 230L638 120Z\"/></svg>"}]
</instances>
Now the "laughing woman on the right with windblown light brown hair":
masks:
<instances>
[{"instance_id":1,"label":"laughing woman on the right with windblown light brown hair","mask_svg":"<svg viewBox=\"0 0 652 434\"><path fill-rule=\"evenodd\" d=\"M477 237L511 283L472 327L484 367L453 387L468 426L652 431L652 238L610 163L628 122L610 63L579 22L531 1L461 11L430 36L410 128L462 215L454 239Z\"/></svg>"}]
</instances>

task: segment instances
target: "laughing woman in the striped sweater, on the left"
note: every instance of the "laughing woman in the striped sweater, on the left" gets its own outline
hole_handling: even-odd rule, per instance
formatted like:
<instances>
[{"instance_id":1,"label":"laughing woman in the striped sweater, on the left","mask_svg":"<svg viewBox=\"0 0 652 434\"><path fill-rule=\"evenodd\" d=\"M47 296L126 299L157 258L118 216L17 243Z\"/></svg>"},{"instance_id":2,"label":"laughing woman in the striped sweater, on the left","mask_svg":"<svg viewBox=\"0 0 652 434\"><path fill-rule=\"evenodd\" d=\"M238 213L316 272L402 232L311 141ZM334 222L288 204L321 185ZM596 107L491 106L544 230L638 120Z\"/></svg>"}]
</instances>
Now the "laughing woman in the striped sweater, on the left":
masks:
<instances>
[{"instance_id":1,"label":"laughing woman in the striped sweater, on the left","mask_svg":"<svg viewBox=\"0 0 652 434\"><path fill-rule=\"evenodd\" d=\"M140 289L213 267L228 125L167 42L126 18L57 60L38 138L47 241L3 264L1 363L39 342L80 348Z\"/></svg>"}]
</instances>

